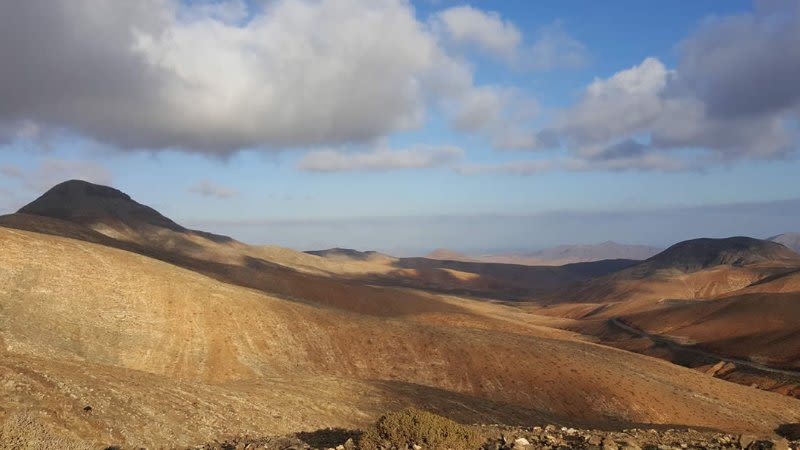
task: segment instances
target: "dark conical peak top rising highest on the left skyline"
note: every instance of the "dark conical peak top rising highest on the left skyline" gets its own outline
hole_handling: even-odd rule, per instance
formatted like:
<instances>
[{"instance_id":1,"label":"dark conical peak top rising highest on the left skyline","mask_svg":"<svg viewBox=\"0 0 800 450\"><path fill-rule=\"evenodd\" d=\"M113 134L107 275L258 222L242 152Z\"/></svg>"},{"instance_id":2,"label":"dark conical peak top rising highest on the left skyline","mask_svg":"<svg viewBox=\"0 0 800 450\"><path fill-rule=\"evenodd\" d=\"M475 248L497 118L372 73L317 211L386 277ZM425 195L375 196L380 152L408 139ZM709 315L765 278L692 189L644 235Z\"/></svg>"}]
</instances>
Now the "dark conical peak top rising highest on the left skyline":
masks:
<instances>
[{"instance_id":1,"label":"dark conical peak top rising highest on the left skyline","mask_svg":"<svg viewBox=\"0 0 800 450\"><path fill-rule=\"evenodd\" d=\"M82 224L119 221L134 228L148 224L185 231L182 226L153 208L137 203L124 192L82 180L57 184L17 212Z\"/></svg>"}]
</instances>

